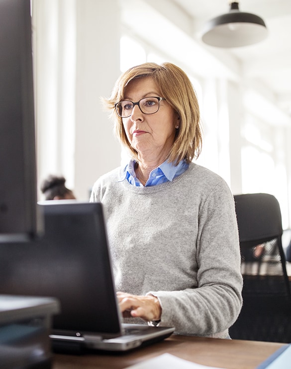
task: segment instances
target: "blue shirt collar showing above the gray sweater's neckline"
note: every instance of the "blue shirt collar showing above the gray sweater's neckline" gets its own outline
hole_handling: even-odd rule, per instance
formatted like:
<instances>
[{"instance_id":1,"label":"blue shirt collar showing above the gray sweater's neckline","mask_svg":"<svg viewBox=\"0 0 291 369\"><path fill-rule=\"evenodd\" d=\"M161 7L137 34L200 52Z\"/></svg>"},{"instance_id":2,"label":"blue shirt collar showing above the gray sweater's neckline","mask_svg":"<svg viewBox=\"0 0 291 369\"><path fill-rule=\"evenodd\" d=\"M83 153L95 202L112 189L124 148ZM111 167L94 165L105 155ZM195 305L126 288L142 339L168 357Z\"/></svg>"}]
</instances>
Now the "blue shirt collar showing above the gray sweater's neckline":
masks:
<instances>
[{"instance_id":1,"label":"blue shirt collar showing above the gray sweater's neckline","mask_svg":"<svg viewBox=\"0 0 291 369\"><path fill-rule=\"evenodd\" d=\"M140 181L136 178L134 164L135 161L130 160L130 162L125 166L124 174L122 175L122 178L120 180L126 178L128 182L133 186L143 187L142 183L140 183ZM177 166L173 165L173 163L169 163L166 160L156 169L153 169L151 171L149 179L145 184L145 187L155 186L157 184L172 181L174 178L184 173L188 169L188 167L189 164L187 164L185 160L180 161L180 163Z\"/></svg>"}]
</instances>

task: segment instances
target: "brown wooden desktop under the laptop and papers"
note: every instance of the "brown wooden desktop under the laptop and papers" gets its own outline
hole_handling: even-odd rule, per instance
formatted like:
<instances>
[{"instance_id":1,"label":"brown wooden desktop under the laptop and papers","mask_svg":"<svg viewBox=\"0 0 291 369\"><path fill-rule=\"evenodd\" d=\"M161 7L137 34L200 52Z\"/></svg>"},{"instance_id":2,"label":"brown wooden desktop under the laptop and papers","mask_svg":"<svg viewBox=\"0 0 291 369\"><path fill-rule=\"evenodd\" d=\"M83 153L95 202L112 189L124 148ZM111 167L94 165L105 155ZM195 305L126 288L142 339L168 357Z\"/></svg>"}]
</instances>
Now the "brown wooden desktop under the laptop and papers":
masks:
<instances>
[{"instance_id":1,"label":"brown wooden desktop under the laptop and papers","mask_svg":"<svg viewBox=\"0 0 291 369\"><path fill-rule=\"evenodd\" d=\"M127 354L55 354L53 369L123 369L164 353L205 366L254 369L283 345L172 335L162 342Z\"/></svg>"}]
</instances>

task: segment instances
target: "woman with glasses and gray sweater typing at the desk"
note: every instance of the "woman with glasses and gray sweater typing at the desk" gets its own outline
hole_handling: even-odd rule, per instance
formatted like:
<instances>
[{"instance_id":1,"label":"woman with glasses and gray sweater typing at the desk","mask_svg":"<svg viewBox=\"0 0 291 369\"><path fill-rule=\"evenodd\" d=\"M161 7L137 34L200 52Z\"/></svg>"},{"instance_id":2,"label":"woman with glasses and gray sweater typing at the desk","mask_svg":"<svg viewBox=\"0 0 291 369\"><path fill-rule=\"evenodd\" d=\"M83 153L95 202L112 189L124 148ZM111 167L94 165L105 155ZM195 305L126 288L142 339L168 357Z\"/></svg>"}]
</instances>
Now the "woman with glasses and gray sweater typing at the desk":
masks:
<instances>
[{"instance_id":1,"label":"woman with glasses and gray sweater typing at the desk","mask_svg":"<svg viewBox=\"0 0 291 369\"><path fill-rule=\"evenodd\" d=\"M228 338L242 304L234 202L222 178L192 162L201 131L190 80L171 63L145 63L105 103L131 160L97 180L91 201L104 205L123 317Z\"/></svg>"}]
</instances>

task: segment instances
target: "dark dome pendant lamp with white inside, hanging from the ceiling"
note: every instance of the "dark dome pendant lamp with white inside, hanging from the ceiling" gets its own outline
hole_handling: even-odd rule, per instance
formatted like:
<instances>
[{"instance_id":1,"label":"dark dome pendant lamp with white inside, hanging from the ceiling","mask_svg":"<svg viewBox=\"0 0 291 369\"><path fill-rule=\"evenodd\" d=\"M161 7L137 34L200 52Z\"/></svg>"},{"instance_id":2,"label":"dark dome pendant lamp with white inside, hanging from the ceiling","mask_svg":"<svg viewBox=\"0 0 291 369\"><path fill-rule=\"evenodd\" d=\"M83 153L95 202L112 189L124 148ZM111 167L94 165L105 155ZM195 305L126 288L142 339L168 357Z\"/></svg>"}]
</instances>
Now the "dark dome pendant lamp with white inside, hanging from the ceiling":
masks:
<instances>
[{"instance_id":1,"label":"dark dome pendant lamp with white inside, hanging from the ceiling","mask_svg":"<svg viewBox=\"0 0 291 369\"><path fill-rule=\"evenodd\" d=\"M206 22L202 41L217 47L252 45L267 37L264 20L258 15L241 12L238 2L231 2L230 10Z\"/></svg>"}]
</instances>

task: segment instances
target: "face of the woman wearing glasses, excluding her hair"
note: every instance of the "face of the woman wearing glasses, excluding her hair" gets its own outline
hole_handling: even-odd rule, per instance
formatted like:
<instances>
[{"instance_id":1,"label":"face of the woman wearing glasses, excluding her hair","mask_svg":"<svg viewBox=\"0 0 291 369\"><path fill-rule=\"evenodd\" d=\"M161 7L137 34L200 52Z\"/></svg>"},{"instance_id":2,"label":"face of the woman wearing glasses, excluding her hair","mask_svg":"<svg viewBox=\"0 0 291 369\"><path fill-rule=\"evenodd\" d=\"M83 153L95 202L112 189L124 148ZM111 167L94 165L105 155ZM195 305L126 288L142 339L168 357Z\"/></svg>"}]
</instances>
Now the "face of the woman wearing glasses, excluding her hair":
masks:
<instances>
[{"instance_id":1,"label":"face of the woman wearing glasses, excluding her hair","mask_svg":"<svg viewBox=\"0 0 291 369\"><path fill-rule=\"evenodd\" d=\"M131 81L124 91L124 100L134 103L149 96L163 97L150 77ZM150 115L135 105L131 116L122 118L122 122L127 139L139 157L165 160L174 143L175 127L179 125L178 115L167 101L161 100L159 111Z\"/></svg>"}]
</instances>

